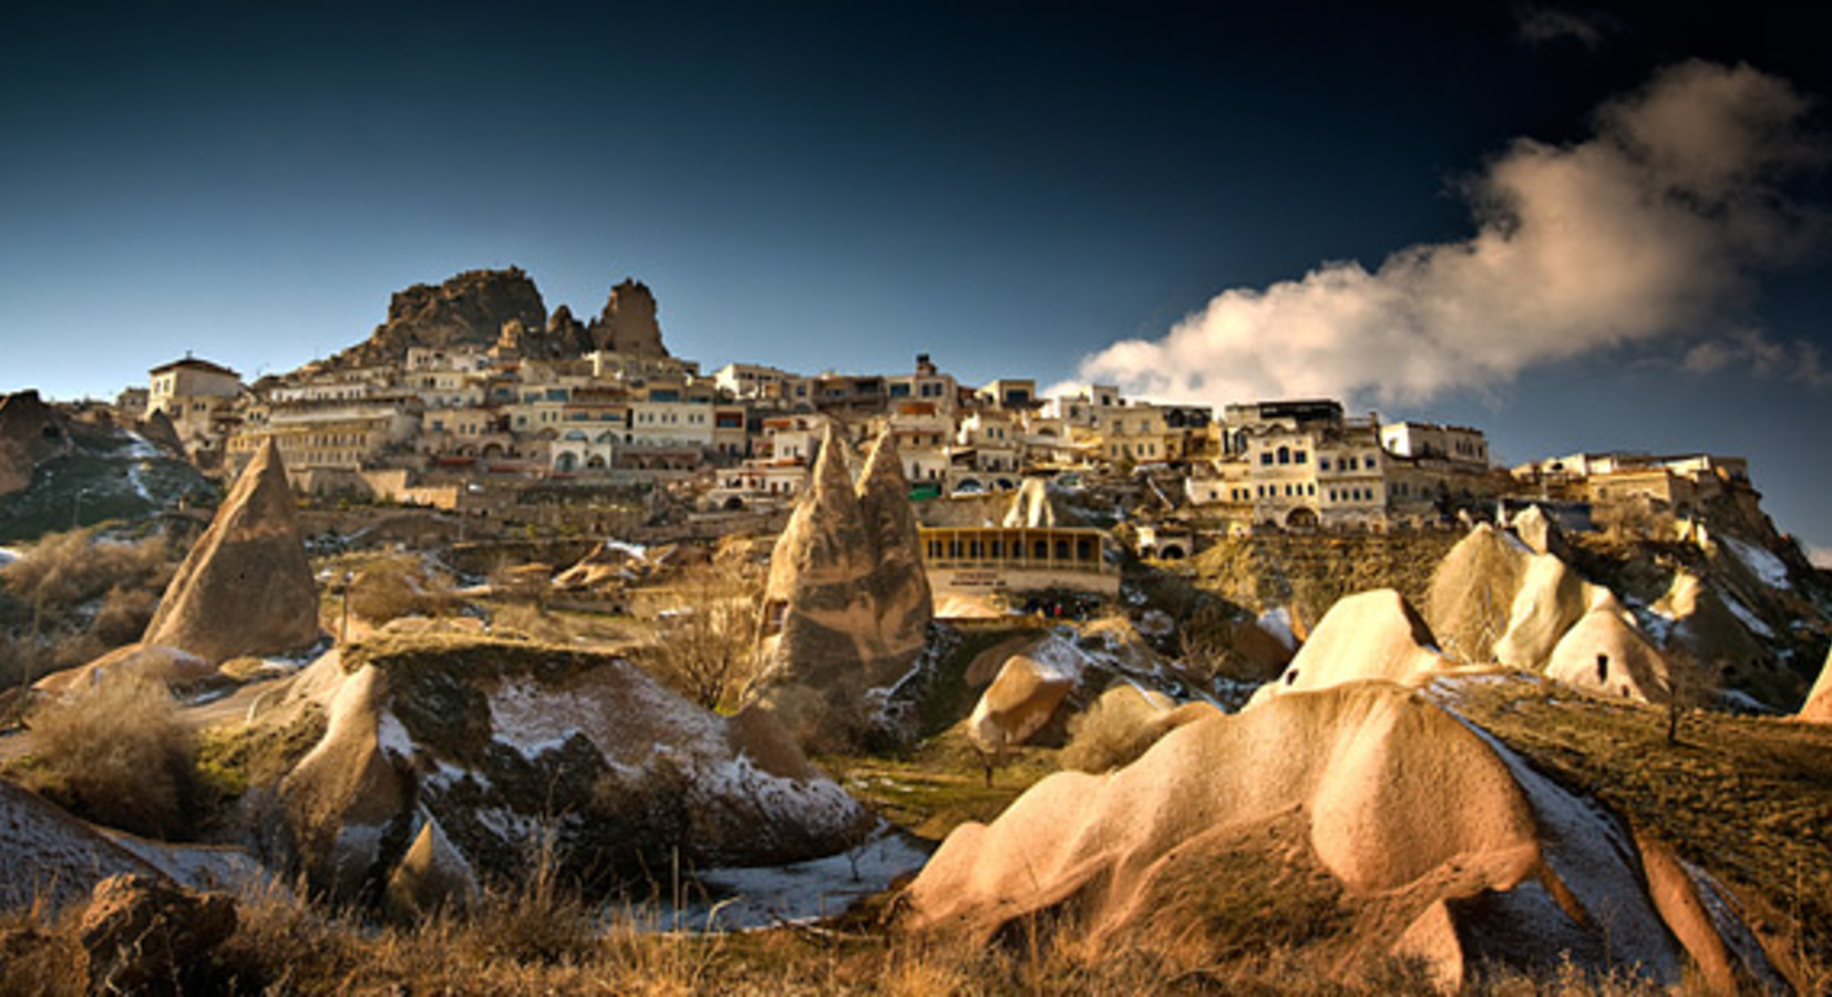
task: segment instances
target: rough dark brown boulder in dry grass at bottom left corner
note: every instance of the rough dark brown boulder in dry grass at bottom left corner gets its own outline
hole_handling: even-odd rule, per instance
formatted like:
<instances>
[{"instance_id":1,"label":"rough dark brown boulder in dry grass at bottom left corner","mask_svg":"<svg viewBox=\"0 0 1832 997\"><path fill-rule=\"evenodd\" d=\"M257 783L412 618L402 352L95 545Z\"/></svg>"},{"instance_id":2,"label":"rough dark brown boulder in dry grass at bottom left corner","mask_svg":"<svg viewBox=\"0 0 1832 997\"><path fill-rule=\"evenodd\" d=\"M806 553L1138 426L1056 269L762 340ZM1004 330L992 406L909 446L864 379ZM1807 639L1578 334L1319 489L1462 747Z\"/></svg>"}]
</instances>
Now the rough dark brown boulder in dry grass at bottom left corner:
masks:
<instances>
[{"instance_id":1,"label":"rough dark brown boulder in dry grass at bottom left corner","mask_svg":"<svg viewBox=\"0 0 1832 997\"><path fill-rule=\"evenodd\" d=\"M181 993L183 977L234 935L234 900L194 894L154 876L95 885L77 935L92 993Z\"/></svg>"}]
</instances>

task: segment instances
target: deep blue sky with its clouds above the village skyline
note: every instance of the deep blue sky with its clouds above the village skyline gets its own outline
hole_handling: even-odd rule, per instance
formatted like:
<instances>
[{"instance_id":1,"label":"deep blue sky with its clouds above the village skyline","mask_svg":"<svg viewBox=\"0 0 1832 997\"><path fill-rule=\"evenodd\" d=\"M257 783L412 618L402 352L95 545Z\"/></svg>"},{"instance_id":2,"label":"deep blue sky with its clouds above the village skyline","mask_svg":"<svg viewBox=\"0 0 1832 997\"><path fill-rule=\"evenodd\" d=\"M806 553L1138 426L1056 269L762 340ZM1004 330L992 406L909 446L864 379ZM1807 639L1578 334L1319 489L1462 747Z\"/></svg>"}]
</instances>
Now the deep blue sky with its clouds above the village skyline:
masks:
<instances>
[{"instance_id":1,"label":"deep blue sky with its clouds above the village skyline","mask_svg":"<svg viewBox=\"0 0 1832 997\"><path fill-rule=\"evenodd\" d=\"M253 379L520 266L801 372L1336 396L1711 451L1832 552L1799 7L9 4L0 390Z\"/></svg>"}]
</instances>

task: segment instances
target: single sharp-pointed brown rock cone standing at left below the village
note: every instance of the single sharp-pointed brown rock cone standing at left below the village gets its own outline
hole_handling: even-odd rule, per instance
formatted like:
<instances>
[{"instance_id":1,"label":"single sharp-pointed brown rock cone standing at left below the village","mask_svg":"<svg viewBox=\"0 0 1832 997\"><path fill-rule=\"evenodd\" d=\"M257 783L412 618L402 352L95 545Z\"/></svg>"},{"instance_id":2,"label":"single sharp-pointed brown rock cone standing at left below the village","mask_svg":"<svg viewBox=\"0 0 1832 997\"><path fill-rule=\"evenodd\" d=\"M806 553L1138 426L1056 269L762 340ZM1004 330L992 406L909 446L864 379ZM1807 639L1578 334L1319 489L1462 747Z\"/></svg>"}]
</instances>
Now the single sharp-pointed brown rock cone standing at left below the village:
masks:
<instances>
[{"instance_id":1,"label":"single sharp-pointed brown rock cone standing at left below the village","mask_svg":"<svg viewBox=\"0 0 1832 997\"><path fill-rule=\"evenodd\" d=\"M286 467L267 440L180 564L141 643L222 663L302 651L317 640L317 583Z\"/></svg>"}]
</instances>

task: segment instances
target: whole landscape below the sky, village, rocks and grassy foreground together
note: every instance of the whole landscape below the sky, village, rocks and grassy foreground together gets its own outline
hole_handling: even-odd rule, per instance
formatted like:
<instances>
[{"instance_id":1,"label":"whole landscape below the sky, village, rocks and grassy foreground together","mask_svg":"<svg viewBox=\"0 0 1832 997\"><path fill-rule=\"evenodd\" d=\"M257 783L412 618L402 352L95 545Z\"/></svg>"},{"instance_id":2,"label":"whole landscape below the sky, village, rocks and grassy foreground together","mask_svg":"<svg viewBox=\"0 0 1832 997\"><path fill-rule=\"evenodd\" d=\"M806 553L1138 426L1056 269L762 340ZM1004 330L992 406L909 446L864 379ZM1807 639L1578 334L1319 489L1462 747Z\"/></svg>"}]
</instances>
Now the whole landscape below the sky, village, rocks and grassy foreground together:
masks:
<instances>
[{"instance_id":1,"label":"whole landscape below the sky, village, rocks and grassy foreground together","mask_svg":"<svg viewBox=\"0 0 1832 997\"><path fill-rule=\"evenodd\" d=\"M1832 988L1832 579L1737 456L702 374L507 269L7 396L9 509L26 992Z\"/></svg>"}]
</instances>

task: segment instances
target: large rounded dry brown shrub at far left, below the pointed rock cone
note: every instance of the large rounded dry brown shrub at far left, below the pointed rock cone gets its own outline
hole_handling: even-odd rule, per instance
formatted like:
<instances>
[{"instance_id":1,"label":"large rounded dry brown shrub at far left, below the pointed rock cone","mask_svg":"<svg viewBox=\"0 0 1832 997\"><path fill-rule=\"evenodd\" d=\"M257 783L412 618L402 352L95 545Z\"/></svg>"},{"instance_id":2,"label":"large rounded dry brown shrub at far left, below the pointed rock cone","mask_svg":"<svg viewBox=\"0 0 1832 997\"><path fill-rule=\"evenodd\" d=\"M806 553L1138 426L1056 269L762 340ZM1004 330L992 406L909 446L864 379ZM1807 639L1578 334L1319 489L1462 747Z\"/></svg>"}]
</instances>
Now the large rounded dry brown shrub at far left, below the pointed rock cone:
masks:
<instances>
[{"instance_id":1,"label":"large rounded dry brown shrub at far left, below the pointed rock cone","mask_svg":"<svg viewBox=\"0 0 1832 997\"><path fill-rule=\"evenodd\" d=\"M169 838L187 830L196 799L191 731L163 684L115 674L29 718L44 795L123 830Z\"/></svg>"}]
</instances>

